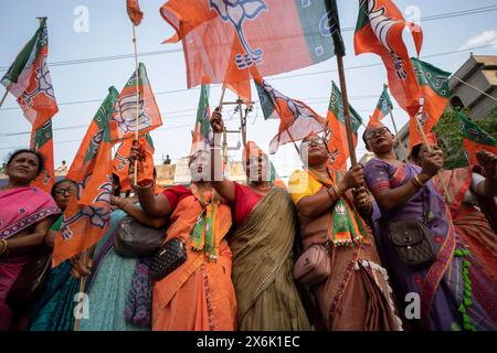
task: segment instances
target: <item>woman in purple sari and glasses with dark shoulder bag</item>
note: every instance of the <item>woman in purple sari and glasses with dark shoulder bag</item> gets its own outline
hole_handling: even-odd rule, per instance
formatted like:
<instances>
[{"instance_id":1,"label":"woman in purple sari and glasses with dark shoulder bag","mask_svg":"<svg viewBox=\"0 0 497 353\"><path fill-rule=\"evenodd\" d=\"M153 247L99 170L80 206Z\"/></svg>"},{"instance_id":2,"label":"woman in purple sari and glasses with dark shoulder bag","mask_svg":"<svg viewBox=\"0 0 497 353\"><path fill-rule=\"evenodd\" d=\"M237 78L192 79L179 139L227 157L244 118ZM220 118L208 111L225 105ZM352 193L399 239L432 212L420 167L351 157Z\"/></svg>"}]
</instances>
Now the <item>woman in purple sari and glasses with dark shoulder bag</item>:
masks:
<instances>
[{"instance_id":1,"label":"woman in purple sari and glasses with dark shoulder bag","mask_svg":"<svg viewBox=\"0 0 497 353\"><path fill-rule=\"evenodd\" d=\"M422 330L495 330L495 285L461 240L444 197L432 181L442 168L441 153L427 153L420 168L396 160L393 135L384 126L369 127L363 139L376 154L366 165L364 175L381 211L377 238L383 260L399 299L419 296L420 317L411 318L411 325ZM408 221L429 229L426 242L435 256L422 267L401 260L389 236L393 224ZM398 239L399 234L391 236Z\"/></svg>"}]
</instances>

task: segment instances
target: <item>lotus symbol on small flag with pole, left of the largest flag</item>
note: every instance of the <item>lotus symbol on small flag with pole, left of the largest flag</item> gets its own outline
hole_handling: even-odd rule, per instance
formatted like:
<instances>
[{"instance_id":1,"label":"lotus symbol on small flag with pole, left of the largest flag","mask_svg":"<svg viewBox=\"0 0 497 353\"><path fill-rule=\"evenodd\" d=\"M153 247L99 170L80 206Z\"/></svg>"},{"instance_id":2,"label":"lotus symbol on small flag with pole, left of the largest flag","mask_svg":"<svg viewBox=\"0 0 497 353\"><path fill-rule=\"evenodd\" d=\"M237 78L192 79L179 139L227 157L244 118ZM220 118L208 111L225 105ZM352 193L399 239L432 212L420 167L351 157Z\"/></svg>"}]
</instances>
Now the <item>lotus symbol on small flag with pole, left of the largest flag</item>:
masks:
<instances>
[{"instance_id":1,"label":"lotus symbol on small flag with pole, left of the largest flag","mask_svg":"<svg viewBox=\"0 0 497 353\"><path fill-rule=\"evenodd\" d=\"M145 101L141 97L141 93L138 92L138 127L136 121L137 108L136 108L136 94L130 94L118 99L115 105L116 115L114 120L117 122L117 127L121 135L129 131L135 132L146 129L151 125L151 118L146 114Z\"/></svg>"}]
</instances>

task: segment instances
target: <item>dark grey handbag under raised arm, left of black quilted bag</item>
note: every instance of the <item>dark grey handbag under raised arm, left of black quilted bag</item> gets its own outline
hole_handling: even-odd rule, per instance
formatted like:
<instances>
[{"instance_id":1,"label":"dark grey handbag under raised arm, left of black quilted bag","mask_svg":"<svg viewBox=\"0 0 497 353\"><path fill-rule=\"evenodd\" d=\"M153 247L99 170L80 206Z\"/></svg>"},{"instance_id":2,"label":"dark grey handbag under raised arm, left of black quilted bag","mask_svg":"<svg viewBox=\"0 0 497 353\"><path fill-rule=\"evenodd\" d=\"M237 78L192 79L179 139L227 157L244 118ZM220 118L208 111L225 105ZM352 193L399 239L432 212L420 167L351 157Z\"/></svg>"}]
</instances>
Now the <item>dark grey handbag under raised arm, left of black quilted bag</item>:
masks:
<instances>
[{"instance_id":1,"label":"dark grey handbag under raised arm, left of black quilted bag","mask_svg":"<svg viewBox=\"0 0 497 353\"><path fill-rule=\"evenodd\" d=\"M125 216L117 225L114 249L123 257L151 256L162 244L166 228L151 228Z\"/></svg>"}]
</instances>

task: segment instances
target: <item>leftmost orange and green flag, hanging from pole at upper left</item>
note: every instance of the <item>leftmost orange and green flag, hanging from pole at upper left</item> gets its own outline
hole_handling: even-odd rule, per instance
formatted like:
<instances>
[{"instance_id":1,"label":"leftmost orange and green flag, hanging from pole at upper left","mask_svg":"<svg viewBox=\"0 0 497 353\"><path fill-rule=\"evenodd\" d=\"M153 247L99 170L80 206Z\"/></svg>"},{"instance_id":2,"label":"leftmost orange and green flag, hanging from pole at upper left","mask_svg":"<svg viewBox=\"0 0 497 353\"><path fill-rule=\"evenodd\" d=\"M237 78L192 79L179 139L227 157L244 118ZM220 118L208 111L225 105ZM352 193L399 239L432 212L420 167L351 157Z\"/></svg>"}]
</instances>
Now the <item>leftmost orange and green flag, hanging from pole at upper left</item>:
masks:
<instances>
[{"instance_id":1,"label":"leftmost orange and green flag, hanging from pole at upper left","mask_svg":"<svg viewBox=\"0 0 497 353\"><path fill-rule=\"evenodd\" d=\"M1 79L7 90L18 98L18 104L33 130L41 128L59 111L47 56L49 32L46 19L43 19L36 33Z\"/></svg>"}]
</instances>

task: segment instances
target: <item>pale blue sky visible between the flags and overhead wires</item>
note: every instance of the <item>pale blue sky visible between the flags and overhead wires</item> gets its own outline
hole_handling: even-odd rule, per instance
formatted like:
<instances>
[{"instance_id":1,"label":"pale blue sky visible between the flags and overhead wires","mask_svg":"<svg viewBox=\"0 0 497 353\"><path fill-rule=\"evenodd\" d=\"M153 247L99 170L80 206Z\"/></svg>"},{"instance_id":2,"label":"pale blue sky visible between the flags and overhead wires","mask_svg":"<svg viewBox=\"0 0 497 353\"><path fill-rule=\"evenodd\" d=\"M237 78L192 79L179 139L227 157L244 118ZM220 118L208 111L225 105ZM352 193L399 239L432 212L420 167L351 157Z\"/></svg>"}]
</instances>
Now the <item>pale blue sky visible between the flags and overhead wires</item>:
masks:
<instances>
[{"instance_id":1,"label":"pale blue sky visible between the flags and overhead wires","mask_svg":"<svg viewBox=\"0 0 497 353\"><path fill-rule=\"evenodd\" d=\"M295 0L287 0L293 2ZM317 0L311 0L317 1ZM53 118L55 168L62 160L72 162L93 116L114 85L119 92L135 69L131 42L131 23L126 13L125 0L17 0L0 1L0 75L13 62L21 47L31 39L39 24L36 17L47 17L49 64L60 111ZM137 28L139 57L147 67L151 87L162 113L163 126L151 132L156 147L156 163L169 154L175 162L188 154L191 130L200 90L187 89L187 73L182 46L161 44L173 34L172 28L160 17L159 9L165 0L141 0L145 13ZM368 120L374 110L387 73L381 60L374 54L353 54L353 28L358 3L353 0L338 0L342 36L347 55L343 58L348 95L351 106ZM455 72L475 54L497 54L497 11L482 11L469 15L426 20L432 15L459 12L497 6L497 0L395 0L394 3L406 19L419 20L424 32L421 58ZM414 55L412 40L404 32L410 54ZM475 46L484 46L472 50ZM456 53L453 53L456 52ZM450 54L446 54L450 53ZM108 60L124 55L124 58ZM107 57L105 61L94 58ZM87 62L92 58L91 62ZM84 61L78 63L78 61ZM368 66L377 64L376 66ZM366 67L358 67L366 66ZM326 117L331 90L331 81L338 83L336 58L306 68L265 77L267 82L288 97L308 104ZM0 95L3 95L0 86ZM211 86L211 107L219 103L220 85ZM235 96L226 94L226 100ZM255 89L253 99L257 100ZM398 127L408 121L408 116L395 101L393 115ZM229 129L237 130L240 119L233 107L224 109ZM14 97L9 95L0 108L0 161L7 160L14 149L29 146L30 124L23 117ZM385 125L392 127L389 119ZM264 120L258 104L247 117L247 139L255 141L263 150L278 128L278 120ZM359 130L362 135L363 128ZM241 136L230 136L230 146L236 146ZM357 148L358 159L366 152L362 141ZM230 152L240 160L241 150ZM271 157L283 178L300 167L298 154L292 145L279 148ZM286 178L285 178L286 179Z\"/></svg>"}]
</instances>

